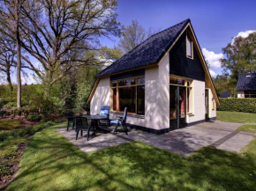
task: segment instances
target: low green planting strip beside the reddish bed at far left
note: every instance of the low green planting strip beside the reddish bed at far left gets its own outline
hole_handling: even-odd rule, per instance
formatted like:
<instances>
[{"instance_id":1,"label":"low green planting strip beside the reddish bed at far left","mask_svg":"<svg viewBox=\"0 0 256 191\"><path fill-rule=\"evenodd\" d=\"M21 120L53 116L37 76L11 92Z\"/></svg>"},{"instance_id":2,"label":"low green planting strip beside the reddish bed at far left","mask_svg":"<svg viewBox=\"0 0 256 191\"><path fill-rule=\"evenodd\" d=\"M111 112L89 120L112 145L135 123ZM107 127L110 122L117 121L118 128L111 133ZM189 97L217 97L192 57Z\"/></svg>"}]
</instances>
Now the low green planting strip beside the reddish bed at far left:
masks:
<instances>
[{"instance_id":1,"label":"low green planting strip beside the reddish bed at far left","mask_svg":"<svg viewBox=\"0 0 256 191\"><path fill-rule=\"evenodd\" d=\"M32 136L35 132L48 128L49 126L54 125L54 122L49 121L46 123L41 123L36 126L29 126L26 129L13 129L0 131L0 142L3 142L6 139L15 138L15 137L24 137L24 136Z\"/></svg>"}]
</instances>

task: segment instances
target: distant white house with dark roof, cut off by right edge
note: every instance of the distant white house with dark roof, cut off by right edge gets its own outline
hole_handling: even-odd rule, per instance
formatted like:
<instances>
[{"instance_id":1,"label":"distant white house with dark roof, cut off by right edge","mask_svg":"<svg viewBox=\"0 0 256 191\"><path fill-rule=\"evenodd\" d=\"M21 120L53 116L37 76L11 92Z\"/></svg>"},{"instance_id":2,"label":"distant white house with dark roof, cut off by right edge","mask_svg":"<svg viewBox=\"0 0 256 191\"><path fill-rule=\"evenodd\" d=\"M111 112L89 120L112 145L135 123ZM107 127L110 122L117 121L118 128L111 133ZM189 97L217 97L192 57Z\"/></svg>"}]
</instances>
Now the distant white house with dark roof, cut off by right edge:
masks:
<instances>
[{"instance_id":1,"label":"distant white house with dark roof, cut off by right edge","mask_svg":"<svg viewBox=\"0 0 256 191\"><path fill-rule=\"evenodd\" d=\"M256 73L239 74L237 98L256 98Z\"/></svg>"}]
</instances>

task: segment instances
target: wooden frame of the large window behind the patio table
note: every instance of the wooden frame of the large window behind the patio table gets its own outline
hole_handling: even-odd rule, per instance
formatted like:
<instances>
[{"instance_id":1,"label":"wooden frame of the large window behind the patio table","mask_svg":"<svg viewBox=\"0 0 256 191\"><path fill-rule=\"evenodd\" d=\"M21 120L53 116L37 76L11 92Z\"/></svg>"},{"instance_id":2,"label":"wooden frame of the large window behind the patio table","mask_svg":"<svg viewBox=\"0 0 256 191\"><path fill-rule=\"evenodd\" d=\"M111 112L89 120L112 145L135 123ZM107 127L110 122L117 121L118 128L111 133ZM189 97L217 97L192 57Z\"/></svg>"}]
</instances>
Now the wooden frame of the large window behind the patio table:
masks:
<instances>
[{"instance_id":1,"label":"wooden frame of the large window behind the patio table","mask_svg":"<svg viewBox=\"0 0 256 191\"><path fill-rule=\"evenodd\" d=\"M144 84L138 84L138 78L139 77L144 77ZM126 80L126 79L132 79L134 78L135 80L135 84L129 84L129 85L119 85L118 81L121 81L121 80ZM112 86L112 82L113 81L116 81L117 82L117 85L116 86ZM135 87L135 113L130 113L128 112L128 114L132 114L132 115L139 115L139 116L145 116L145 111L144 111L144 114L138 114L138 86L144 86L145 87L145 75L141 75L141 76L136 76L136 77L124 77L124 78L120 78L120 79L115 79L115 80L110 80L110 112L113 112L113 113L120 113L120 114L124 114L123 111L120 111L120 104L119 104L119 88L125 88L125 87ZM113 109L113 106L114 106L114 102L113 102L113 99L114 99L114 89L117 89L117 109L114 110ZM146 89L146 88L145 88ZM144 98L145 100L145 98ZM145 110L145 108L144 108Z\"/></svg>"}]
</instances>

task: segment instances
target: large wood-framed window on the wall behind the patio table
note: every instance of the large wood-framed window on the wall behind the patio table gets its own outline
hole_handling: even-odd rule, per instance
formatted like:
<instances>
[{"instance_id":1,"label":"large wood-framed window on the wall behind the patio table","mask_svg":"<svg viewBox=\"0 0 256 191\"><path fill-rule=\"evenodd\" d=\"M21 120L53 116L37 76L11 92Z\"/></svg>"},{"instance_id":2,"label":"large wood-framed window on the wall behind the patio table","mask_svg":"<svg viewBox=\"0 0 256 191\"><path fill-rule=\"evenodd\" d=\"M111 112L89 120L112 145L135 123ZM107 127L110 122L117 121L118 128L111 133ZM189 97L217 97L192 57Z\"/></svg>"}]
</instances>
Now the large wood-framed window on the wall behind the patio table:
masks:
<instances>
[{"instance_id":1,"label":"large wood-framed window on the wall behind the patio table","mask_svg":"<svg viewBox=\"0 0 256 191\"><path fill-rule=\"evenodd\" d=\"M145 114L145 77L131 77L111 81L111 110Z\"/></svg>"}]
</instances>

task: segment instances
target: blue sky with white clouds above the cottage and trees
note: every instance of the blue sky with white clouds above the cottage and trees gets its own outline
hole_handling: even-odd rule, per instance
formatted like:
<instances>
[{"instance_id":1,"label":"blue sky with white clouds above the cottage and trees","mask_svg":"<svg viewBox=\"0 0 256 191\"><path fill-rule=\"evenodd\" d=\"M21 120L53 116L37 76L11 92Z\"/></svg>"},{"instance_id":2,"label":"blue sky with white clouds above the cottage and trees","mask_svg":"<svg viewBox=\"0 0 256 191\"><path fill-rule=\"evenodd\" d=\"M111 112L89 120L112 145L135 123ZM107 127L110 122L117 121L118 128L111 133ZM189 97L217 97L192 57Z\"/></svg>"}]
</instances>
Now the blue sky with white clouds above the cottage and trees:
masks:
<instances>
[{"instance_id":1,"label":"blue sky with white clouds above the cottage and trees","mask_svg":"<svg viewBox=\"0 0 256 191\"><path fill-rule=\"evenodd\" d=\"M138 20L145 28L161 30L190 18L213 77L222 74L222 48L233 37L256 31L256 0L119 0L117 14L117 21L124 26ZM102 45L109 48L117 42L117 38L102 39ZM31 72L27 73L23 82L34 83ZM15 81L15 73L12 78Z\"/></svg>"}]
</instances>

